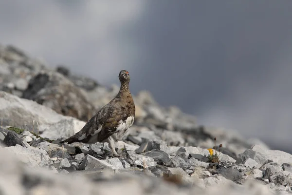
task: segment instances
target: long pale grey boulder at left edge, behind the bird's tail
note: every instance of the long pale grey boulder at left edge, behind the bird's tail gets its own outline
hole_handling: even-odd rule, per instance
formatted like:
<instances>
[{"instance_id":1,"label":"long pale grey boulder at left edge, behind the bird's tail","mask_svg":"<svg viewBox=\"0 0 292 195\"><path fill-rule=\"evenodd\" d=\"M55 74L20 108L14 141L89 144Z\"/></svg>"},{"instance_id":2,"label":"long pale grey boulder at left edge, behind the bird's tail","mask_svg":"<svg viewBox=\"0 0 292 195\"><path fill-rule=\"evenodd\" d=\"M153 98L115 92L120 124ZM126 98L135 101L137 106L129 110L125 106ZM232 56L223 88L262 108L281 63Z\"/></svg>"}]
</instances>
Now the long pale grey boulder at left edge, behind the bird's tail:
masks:
<instances>
[{"instance_id":1,"label":"long pale grey boulder at left edge, behind the bird's tail","mask_svg":"<svg viewBox=\"0 0 292 195\"><path fill-rule=\"evenodd\" d=\"M2 91L0 91L0 117L4 126L16 126L29 131L34 129L42 137L51 139L71 136L85 125L84 121L57 114L35 101L18 98Z\"/></svg>"}]
</instances>

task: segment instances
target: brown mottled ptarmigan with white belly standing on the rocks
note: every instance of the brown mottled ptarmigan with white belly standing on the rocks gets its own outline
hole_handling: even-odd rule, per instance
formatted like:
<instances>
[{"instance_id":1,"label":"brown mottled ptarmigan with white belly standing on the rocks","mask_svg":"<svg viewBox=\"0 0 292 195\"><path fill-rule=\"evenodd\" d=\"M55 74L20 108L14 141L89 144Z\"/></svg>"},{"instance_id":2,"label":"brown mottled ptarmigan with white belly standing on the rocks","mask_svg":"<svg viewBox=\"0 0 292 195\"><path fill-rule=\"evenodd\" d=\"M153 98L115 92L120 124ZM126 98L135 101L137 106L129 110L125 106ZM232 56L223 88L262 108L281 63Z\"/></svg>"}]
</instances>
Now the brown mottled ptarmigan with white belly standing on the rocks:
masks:
<instances>
[{"instance_id":1,"label":"brown mottled ptarmigan with white belly standing on the rocks","mask_svg":"<svg viewBox=\"0 0 292 195\"><path fill-rule=\"evenodd\" d=\"M121 70L119 80L118 94L91 117L79 132L60 144L108 142L113 156L120 156L115 151L116 143L128 134L134 123L135 103L129 89L129 72Z\"/></svg>"}]
</instances>

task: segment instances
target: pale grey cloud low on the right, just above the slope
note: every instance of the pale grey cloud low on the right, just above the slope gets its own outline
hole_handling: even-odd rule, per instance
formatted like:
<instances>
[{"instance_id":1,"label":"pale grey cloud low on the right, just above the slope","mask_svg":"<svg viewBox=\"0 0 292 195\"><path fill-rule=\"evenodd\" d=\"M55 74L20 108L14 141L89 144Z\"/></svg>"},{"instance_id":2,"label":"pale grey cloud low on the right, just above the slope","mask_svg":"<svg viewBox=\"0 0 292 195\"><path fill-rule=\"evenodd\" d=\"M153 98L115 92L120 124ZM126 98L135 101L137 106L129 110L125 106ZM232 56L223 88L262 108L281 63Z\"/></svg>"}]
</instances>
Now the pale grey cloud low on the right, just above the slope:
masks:
<instances>
[{"instance_id":1,"label":"pale grey cloud low on the right, just above the slope","mask_svg":"<svg viewBox=\"0 0 292 195\"><path fill-rule=\"evenodd\" d=\"M237 104L206 108L199 116L201 124L237 130L243 136L258 137L273 147L291 151L286 147L292 136L291 61L275 60L274 74L260 88L235 82L230 96Z\"/></svg>"}]
</instances>

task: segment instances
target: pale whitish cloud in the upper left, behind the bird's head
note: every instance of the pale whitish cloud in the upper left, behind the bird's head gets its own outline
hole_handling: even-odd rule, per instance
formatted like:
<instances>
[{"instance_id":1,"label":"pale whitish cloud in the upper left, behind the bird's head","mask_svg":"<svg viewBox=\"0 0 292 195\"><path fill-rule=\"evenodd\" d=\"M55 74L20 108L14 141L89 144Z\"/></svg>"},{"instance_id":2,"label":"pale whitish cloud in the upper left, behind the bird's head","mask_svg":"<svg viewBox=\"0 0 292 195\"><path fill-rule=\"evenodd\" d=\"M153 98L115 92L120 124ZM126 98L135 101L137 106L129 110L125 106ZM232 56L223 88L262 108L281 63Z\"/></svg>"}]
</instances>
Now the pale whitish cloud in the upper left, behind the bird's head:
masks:
<instances>
[{"instance_id":1,"label":"pale whitish cloud in the upper left, behind the bird's head","mask_svg":"<svg viewBox=\"0 0 292 195\"><path fill-rule=\"evenodd\" d=\"M133 64L130 55L138 50L125 31L143 13L143 4L136 0L3 1L0 41L50 65L63 63L102 83L112 82L108 75Z\"/></svg>"}]
</instances>

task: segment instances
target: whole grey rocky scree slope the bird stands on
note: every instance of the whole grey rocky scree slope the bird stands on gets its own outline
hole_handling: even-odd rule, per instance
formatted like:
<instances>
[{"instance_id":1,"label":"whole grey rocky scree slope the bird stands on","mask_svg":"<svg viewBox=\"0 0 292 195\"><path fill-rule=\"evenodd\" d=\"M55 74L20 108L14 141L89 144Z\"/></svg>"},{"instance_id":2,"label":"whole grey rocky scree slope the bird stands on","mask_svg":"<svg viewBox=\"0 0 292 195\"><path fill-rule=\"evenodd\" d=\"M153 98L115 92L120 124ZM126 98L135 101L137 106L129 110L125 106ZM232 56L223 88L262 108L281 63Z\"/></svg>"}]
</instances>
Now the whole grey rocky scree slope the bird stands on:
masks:
<instances>
[{"instance_id":1,"label":"whole grey rocky scree slope the bird stands on","mask_svg":"<svg viewBox=\"0 0 292 195\"><path fill-rule=\"evenodd\" d=\"M0 194L292 194L291 154L198 126L146 91L134 97L137 117L117 158L107 143L57 142L78 132L118 86L0 46L0 90ZM207 149L215 137L219 158L212 162Z\"/></svg>"}]
</instances>

